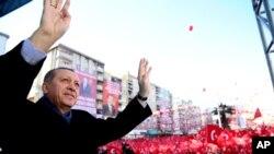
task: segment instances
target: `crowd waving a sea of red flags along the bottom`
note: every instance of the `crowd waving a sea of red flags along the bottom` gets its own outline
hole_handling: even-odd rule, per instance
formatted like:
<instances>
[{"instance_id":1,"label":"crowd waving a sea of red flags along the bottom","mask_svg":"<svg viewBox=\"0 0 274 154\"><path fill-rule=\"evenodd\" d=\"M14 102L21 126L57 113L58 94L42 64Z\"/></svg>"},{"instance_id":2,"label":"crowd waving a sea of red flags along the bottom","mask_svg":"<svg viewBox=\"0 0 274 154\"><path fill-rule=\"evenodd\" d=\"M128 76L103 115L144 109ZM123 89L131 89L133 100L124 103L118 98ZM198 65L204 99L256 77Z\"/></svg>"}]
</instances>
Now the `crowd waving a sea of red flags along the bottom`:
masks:
<instances>
[{"instance_id":1,"label":"crowd waving a sea of red flags along the bottom","mask_svg":"<svg viewBox=\"0 0 274 154\"><path fill-rule=\"evenodd\" d=\"M273 137L274 127L260 125L254 129L225 129L216 142L208 141L207 130L189 135L169 135L156 138L139 138L136 140L116 140L100 150L105 154L252 154L253 137ZM123 144L130 152L123 150Z\"/></svg>"}]
</instances>

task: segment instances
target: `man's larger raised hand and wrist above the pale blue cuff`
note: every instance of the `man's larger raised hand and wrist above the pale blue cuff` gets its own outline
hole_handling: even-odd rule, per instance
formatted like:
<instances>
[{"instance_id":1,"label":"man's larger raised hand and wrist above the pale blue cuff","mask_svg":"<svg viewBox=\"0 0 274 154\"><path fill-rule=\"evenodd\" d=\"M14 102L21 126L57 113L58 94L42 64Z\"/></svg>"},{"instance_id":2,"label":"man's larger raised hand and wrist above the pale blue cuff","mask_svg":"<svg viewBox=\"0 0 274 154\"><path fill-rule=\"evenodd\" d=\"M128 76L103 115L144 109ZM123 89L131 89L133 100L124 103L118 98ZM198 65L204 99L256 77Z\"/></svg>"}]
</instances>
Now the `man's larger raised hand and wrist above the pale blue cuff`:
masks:
<instances>
[{"instance_id":1,"label":"man's larger raised hand and wrist above the pale blue cuff","mask_svg":"<svg viewBox=\"0 0 274 154\"><path fill-rule=\"evenodd\" d=\"M70 0L44 0L44 9L39 27L31 37L34 46L42 51L48 49L68 31L71 16L69 14Z\"/></svg>"}]
</instances>

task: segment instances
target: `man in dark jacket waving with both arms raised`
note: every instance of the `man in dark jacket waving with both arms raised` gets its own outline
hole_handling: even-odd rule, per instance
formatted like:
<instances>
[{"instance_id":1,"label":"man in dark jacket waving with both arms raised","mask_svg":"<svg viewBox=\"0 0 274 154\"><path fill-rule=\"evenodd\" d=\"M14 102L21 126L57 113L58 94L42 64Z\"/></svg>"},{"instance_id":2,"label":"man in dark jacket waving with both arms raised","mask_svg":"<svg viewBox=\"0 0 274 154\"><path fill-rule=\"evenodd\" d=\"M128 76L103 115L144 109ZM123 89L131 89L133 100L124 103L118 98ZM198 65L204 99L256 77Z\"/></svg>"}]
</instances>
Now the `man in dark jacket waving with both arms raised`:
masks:
<instances>
[{"instance_id":1,"label":"man in dark jacket waving with both arms raised","mask_svg":"<svg viewBox=\"0 0 274 154\"><path fill-rule=\"evenodd\" d=\"M139 94L118 116L96 119L71 109L79 96L73 70L50 70L42 85L44 96L32 103L26 96L48 49L67 32L70 1L44 0L39 27L11 51L0 56L0 147L4 154L96 154L96 149L119 139L151 115L150 68L139 62ZM14 88L16 87L16 88Z\"/></svg>"}]
</instances>

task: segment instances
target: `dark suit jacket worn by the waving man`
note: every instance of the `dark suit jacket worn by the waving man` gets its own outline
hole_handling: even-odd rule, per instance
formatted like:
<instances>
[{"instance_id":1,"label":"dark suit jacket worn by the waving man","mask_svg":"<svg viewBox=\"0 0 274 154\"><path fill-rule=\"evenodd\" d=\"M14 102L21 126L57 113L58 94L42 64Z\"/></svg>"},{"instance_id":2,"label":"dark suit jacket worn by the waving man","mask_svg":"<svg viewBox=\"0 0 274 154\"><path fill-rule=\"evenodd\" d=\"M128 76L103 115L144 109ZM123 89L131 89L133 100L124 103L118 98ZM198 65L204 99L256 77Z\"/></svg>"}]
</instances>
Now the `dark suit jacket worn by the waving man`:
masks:
<instances>
[{"instance_id":1,"label":"dark suit jacket worn by the waving man","mask_svg":"<svg viewBox=\"0 0 274 154\"><path fill-rule=\"evenodd\" d=\"M70 123L38 100L26 99L43 61L31 66L22 58L22 43L0 56L0 147L4 154L96 154L151 115L134 98L123 112L107 120L72 110Z\"/></svg>"}]
</instances>

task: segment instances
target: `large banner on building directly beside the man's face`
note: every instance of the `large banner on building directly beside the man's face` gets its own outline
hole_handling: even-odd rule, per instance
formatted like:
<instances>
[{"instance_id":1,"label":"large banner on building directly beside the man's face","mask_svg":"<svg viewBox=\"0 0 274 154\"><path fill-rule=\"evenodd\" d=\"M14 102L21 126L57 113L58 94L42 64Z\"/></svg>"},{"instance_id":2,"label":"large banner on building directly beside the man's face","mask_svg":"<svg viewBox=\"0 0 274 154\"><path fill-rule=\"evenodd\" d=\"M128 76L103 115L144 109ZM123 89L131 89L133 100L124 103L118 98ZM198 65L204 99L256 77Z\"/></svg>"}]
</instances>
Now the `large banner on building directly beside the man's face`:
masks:
<instances>
[{"instance_id":1,"label":"large banner on building directly beside the man's face","mask_svg":"<svg viewBox=\"0 0 274 154\"><path fill-rule=\"evenodd\" d=\"M80 71L76 73L80 79L80 93L73 108L96 115L96 76Z\"/></svg>"}]
</instances>

